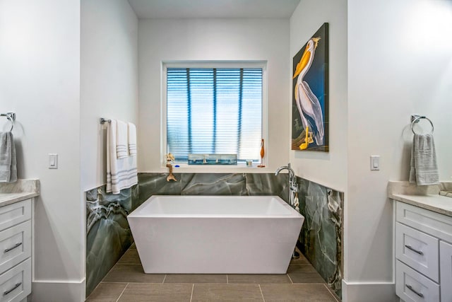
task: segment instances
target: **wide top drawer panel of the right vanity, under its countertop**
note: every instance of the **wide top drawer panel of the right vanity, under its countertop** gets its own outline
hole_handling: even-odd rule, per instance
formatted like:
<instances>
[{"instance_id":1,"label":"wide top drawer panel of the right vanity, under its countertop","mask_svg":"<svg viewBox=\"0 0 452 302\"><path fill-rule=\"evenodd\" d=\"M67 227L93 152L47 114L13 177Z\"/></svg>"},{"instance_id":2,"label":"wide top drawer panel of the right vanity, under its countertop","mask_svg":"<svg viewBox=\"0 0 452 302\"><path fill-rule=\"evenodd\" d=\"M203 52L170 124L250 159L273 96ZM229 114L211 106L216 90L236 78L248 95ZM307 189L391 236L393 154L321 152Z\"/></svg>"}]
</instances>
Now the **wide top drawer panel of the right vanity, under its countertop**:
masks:
<instances>
[{"instance_id":1,"label":"wide top drawer panel of the right vanity, under its countertop","mask_svg":"<svg viewBox=\"0 0 452 302\"><path fill-rule=\"evenodd\" d=\"M452 217L396 202L396 220L452 243Z\"/></svg>"}]
</instances>

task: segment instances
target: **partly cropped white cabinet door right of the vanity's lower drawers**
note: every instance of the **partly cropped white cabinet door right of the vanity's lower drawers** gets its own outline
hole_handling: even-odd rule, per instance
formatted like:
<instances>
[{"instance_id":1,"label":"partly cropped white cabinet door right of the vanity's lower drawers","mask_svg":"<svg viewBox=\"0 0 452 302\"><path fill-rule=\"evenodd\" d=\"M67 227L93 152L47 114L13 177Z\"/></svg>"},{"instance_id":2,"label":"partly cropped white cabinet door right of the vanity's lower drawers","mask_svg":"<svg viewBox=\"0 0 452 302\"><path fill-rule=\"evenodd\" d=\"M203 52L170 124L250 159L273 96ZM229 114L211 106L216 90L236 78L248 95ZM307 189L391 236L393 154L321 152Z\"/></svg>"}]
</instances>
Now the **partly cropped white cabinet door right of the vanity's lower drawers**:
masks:
<instances>
[{"instance_id":1,"label":"partly cropped white cabinet door right of the vanity's lower drawers","mask_svg":"<svg viewBox=\"0 0 452 302\"><path fill-rule=\"evenodd\" d=\"M452 245L439 242L441 302L452 302Z\"/></svg>"}]
</instances>

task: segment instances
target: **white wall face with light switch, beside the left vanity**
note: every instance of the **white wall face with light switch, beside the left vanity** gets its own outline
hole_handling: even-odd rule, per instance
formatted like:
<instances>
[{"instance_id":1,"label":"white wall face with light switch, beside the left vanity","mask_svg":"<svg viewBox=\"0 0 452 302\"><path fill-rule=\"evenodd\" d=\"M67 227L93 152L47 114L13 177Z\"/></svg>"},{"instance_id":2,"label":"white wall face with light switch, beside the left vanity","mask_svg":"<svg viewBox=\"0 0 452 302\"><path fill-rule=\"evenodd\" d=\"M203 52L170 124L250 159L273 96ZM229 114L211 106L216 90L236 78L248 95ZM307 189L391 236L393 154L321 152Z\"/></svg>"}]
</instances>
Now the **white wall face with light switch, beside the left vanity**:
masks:
<instances>
[{"instance_id":1,"label":"white wall face with light switch, beside the left vanity","mask_svg":"<svg viewBox=\"0 0 452 302\"><path fill-rule=\"evenodd\" d=\"M18 178L41 182L34 301L84 295L79 78L80 1L0 0L0 108L17 114ZM57 170L47 168L48 153L59 154Z\"/></svg>"}]
</instances>

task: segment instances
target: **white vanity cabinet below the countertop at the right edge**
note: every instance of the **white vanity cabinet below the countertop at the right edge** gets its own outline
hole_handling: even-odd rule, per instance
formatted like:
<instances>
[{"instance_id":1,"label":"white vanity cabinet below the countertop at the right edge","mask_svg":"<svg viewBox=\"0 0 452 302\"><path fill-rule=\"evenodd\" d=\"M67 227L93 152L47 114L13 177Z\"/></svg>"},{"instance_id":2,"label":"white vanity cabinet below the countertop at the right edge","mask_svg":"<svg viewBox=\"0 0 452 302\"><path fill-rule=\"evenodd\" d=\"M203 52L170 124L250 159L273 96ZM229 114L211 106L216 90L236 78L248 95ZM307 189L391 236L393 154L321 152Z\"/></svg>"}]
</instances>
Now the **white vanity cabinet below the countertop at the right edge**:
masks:
<instances>
[{"instance_id":1,"label":"white vanity cabinet below the countertop at the right edge","mask_svg":"<svg viewBox=\"0 0 452 302\"><path fill-rule=\"evenodd\" d=\"M452 217L396 202L395 236L400 300L452 302Z\"/></svg>"}]
</instances>

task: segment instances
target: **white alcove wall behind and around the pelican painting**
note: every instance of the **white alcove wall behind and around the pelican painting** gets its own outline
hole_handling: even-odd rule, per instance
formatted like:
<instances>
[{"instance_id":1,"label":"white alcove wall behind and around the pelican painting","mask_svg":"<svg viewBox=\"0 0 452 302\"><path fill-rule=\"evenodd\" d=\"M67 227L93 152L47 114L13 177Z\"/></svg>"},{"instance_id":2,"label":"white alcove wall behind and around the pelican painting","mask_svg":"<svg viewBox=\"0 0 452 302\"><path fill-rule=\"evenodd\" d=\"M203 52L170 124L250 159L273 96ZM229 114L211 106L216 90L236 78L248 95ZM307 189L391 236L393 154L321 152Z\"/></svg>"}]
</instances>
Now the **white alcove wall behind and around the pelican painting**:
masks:
<instances>
[{"instance_id":1,"label":"white alcove wall behind and around the pelican painting","mask_svg":"<svg viewBox=\"0 0 452 302\"><path fill-rule=\"evenodd\" d=\"M347 0L300 1L290 18L290 66L295 54L323 23L329 23L330 151L328 153L290 151L290 161L299 177L345 192L347 187ZM292 74L291 67L287 79L292 79ZM292 85L290 86L292 89ZM292 104L290 98L286 102ZM285 116L291 117L292 112ZM290 135L287 138L290 140Z\"/></svg>"}]
</instances>

